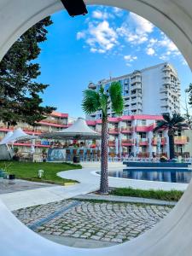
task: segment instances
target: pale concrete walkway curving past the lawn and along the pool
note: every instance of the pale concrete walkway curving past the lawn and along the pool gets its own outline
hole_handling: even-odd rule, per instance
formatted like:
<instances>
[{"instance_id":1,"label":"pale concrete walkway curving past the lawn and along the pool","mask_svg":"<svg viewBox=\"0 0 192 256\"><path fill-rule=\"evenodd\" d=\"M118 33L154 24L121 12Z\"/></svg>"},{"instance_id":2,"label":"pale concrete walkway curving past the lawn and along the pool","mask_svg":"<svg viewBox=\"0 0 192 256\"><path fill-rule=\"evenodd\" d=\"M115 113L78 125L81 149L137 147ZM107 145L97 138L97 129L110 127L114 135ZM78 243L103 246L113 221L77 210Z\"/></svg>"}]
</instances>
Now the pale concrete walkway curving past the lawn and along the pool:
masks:
<instances>
[{"instance_id":1,"label":"pale concrete walkway curving past the lawn and along the pool","mask_svg":"<svg viewBox=\"0 0 192 256\"><path fill-rule=\"evenodd\" d=\"M9 208L17 210L25 207L47 204L49 202L61 201L72 198L76 195L85 195L99 189L100 176L96 171L100 170L99 163L83 163L83 169L59 172L60 177L75 179L79 183L67 187L49 186L41 189L29 189L15 193L0 195L0 200ZM109 163L109 170L121 170L122 163ZM134 189L164 189L164 190L185 190L188 184L184 183L163 183L124 178L109 177L109 186L115 188L132 187Z\"/></svg>"}]
</instances>

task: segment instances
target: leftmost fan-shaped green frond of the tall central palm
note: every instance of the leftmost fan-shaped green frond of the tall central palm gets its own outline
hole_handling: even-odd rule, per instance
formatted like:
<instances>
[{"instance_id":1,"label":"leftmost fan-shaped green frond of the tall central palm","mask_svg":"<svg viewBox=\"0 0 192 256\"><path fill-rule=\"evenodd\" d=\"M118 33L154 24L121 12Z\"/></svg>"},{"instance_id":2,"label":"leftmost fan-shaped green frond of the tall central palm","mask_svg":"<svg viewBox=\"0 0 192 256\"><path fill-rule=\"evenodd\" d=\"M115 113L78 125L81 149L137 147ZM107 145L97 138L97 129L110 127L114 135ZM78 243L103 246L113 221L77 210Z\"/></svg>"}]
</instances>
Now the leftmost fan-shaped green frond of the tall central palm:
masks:
<instances>
[{"instance_id":1,"label":"leftmost fan-shaped green frond of the tall central palm","mask_svg":"<svg viewBox=\"0 0 192 256\"><path fill-rule=\"evenodd\" d=\"M101 108L100 95L95 90L84 90L82 108L84 113L95 113Z\"/></svg>"}]
</instances>

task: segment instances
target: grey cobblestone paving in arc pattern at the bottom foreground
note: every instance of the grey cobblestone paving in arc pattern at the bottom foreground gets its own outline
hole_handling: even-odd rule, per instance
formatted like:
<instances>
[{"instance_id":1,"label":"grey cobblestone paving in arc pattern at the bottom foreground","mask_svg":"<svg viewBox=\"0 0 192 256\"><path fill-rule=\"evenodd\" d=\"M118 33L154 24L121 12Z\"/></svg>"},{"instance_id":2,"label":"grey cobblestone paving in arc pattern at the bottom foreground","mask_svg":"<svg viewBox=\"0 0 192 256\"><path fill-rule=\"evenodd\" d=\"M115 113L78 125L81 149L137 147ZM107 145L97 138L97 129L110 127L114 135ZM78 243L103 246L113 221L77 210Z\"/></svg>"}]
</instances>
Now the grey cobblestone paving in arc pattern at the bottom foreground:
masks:
<instances>
[{"instance_id":1,"label":"grey cobblestone paving in arc pattern at the bottom foreground","mask_svg":"<svg viewBox=\"0 0 192 256\"><path fill-rule=\"evenodd\" d=\"M74 204L76 203L76 206ZM171 207L95 201L60 201L15 211L41 234L124 242L151 229ZM43 222L39 222L41 220Z\"/></svg>"}]
</instances>

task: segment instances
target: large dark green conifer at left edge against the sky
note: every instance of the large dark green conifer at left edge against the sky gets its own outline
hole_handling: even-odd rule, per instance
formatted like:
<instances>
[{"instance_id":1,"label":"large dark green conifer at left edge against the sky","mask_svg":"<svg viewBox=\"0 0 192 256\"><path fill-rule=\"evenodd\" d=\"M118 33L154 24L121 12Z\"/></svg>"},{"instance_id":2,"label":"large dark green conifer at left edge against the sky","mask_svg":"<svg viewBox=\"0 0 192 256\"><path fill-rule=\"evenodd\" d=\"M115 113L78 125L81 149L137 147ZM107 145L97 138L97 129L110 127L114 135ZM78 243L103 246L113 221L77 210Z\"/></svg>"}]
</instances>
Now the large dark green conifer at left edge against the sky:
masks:
<instances>
[{"instance_id":1,"label":"large dark green conifer at left edge against the sky","mask_svg":"<svg viewBox=\"0 0 192 256\"><path fill-rule=\"evenodd\" d=\"M39 94L49 85L35 81L40 75L40 67L34 61L41 52L39 44L47 40L46 27L51 24L47 17L32 26L0 62L0 119L8 126L18 121L33 125L55 110L41 106L43 100Z\"/></svg>"}]
</instances>

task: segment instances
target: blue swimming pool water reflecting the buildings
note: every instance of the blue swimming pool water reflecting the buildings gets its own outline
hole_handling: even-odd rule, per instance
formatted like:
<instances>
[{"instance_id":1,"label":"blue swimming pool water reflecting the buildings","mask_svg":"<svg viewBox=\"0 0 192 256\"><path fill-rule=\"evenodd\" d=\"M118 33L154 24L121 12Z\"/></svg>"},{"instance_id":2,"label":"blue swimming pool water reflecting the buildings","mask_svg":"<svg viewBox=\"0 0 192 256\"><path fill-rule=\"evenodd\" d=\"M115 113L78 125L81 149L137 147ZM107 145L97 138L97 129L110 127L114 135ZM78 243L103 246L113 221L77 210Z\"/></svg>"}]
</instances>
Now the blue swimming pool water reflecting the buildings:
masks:
<instances>
[{"instance_id":1,"label":"blue swimming pool water reflecting the buildings","mask_svg":"<svg viewBox=\"0 0 192 256\"><path fill-rule=\"evenodd\" d=\"M140 179L148 181L160 181L168 183L189 183L192 177L192 170L182 169L148 169L148 168L127 168L121 171L109 171L109 177L123 177L129 179Z\"/></svg>"}]
</instances>

